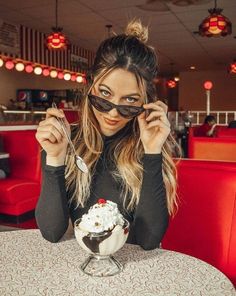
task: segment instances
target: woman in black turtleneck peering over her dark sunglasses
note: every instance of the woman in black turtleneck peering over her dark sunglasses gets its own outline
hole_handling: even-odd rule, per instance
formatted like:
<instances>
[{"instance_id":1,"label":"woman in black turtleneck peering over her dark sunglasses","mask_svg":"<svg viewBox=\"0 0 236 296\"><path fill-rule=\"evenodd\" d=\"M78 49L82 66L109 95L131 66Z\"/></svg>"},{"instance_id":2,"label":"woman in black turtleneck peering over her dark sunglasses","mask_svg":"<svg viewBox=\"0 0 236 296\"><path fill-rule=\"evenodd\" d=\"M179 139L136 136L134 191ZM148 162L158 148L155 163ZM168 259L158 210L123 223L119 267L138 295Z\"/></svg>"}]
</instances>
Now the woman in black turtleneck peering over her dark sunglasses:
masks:
<instances>
[{"instance_id":1,"label":"woman in black turtleneck peering over her dark sunglasses","mask_svg":"<svg viewBox=\"0 0 236 296\"><path fill-rule=\"evenodd\" d=\"M36 138L44 149L43 183L36 220L44 238L57 242L98 198L112 200L130 221L129 243L159 246L176 205L167 106L157 101L154 50L147 28L132 21L126 33L98 48L81 120L72 139L89 173L76 169L68 143L50 108Z\"/></svg>"}]
</instances>

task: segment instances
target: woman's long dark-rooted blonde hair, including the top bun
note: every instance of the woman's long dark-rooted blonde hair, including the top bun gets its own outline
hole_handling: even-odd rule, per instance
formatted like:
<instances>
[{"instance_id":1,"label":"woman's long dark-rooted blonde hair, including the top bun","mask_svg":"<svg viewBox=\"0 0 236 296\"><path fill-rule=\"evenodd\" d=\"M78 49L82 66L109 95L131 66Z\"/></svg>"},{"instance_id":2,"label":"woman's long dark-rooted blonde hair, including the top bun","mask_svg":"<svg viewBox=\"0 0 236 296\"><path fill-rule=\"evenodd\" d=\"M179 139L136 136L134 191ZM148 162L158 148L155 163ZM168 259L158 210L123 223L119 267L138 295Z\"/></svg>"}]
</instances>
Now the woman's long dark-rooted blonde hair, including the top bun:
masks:
<instances>
[{"instance_id":1,"label":"woman's long dark-rooted blonde hair, including the top bun","mask_svg":"<svg viewBox=\"0 0 236 296\"><path fill-rule=\"evenodd\" d=\"M71 201L75 201L77 206L84 207L90 196L92 176L103 151L103 138L87 95L100 78L116 68L122 68L135 74L140 89L145 93L146 102L157 100L153 84L157 75L157 57L153 48L145 44L147 38L148 29L143 27L139 20L134 20L128 24L125 34L104 40L97 50L89 86L80 105L80 124L73 139L77 153L85 160L89 173L84 174L77 170L74 158L69 154L66 159L67 190L71 190ZM170 135L162 148L162 172L170 214L173 214L177 207L176 167L171 156L172 143L173 138ZM109 155L117 167L113 177L122 184L123 206L127 211L132 211L139 202L143 179L144 149L136 118L128 122L122 136L112 141Z\"/></svg>"}]
</instances>

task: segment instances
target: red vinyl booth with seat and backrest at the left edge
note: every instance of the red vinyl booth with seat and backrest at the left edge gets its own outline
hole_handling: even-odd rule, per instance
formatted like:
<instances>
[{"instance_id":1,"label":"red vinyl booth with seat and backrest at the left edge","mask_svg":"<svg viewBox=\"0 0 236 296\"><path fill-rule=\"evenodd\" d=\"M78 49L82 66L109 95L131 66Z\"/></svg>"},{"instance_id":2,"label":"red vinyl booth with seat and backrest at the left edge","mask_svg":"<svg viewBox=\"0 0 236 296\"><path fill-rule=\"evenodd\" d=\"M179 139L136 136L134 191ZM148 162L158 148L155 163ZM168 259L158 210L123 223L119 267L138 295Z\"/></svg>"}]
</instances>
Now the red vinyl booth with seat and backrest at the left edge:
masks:
<instances>
[{"instance_id":1,"label":"red vinyl booth with seat and backrest at the left edge","mask_svg":"<svg viewBox=\"0 0 236 296\"><path fill-rule=\"evenodd\" d=\"M10 176L0 180L0 215L19 217L35 209L40 194L40 146L35 130L3 131L0 136L10 154Z\"/></svg>"}]
</instances>

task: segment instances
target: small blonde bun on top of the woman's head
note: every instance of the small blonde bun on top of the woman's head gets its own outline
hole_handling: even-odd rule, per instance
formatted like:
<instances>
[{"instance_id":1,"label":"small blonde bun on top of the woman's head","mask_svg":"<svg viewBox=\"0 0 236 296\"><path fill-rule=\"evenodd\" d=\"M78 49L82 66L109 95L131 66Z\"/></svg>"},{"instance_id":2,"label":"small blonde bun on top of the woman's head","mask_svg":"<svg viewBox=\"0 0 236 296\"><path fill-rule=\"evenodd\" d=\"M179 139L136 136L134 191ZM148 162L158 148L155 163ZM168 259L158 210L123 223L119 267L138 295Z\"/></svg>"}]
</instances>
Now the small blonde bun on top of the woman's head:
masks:
<instances>
[{"instance_id":1,"label":"small blonde bun on top of the woman's head","mask_svg":"<svg viewBox=\"0 0 236 296\"><path fill-rule=\"evenodd\" d=\"M125 34L134 36L139 41L146 43L148 40L148 27L143 26L140 19L134 19L128 23Z\"/></svg>"}]
</instances>

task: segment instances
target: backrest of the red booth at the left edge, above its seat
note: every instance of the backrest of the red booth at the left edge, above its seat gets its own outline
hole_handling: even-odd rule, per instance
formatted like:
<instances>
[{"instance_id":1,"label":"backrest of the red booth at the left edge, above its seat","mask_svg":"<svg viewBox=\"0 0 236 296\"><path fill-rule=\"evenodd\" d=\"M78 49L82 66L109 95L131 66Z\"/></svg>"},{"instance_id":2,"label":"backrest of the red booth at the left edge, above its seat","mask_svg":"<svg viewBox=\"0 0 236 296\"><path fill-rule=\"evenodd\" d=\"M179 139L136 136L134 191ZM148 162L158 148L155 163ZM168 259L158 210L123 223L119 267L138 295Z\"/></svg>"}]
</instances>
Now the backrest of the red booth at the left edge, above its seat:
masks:
<instances>
[{"instance_id":1,"label":"backrest of the red booth at the left edge, above its seat","mask_svg":"<svg viewBox=\"0 0 236 296\"><path fill-rule=\"evenodd\" d=\"M0 132L4 151L10 154L11 178L40 180L40 146L35 138L35 132L35 130Z\"/></svg>"}]
</instances>

